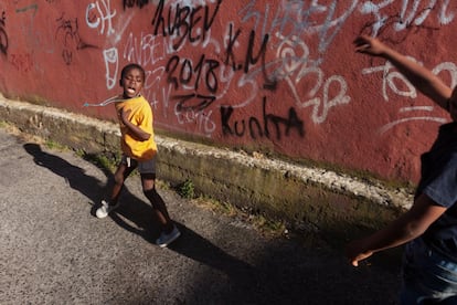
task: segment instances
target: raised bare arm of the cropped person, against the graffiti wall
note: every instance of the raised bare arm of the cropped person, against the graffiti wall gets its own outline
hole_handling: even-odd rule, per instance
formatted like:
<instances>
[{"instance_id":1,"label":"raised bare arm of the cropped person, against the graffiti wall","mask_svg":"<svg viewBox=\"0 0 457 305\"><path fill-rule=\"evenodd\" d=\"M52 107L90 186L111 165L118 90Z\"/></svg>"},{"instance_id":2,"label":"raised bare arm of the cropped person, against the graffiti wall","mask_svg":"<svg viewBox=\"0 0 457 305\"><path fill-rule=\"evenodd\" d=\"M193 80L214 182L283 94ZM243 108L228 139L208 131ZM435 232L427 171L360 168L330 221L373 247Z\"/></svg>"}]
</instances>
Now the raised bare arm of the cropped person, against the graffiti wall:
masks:
<instances>
[{"instance_id":1,"label":"raised bare arm of the cropped person, against the graffiti wall","mask_svg":"<svg viewBox=\"0 0 457 305\"><path fill-rule=\"evenodd\" d=\"M389 48L375 38L361 35L354 40L355 51L390 61L423 94L448 111L453 90L421 64Z\"/></svg>"}]
</instances>

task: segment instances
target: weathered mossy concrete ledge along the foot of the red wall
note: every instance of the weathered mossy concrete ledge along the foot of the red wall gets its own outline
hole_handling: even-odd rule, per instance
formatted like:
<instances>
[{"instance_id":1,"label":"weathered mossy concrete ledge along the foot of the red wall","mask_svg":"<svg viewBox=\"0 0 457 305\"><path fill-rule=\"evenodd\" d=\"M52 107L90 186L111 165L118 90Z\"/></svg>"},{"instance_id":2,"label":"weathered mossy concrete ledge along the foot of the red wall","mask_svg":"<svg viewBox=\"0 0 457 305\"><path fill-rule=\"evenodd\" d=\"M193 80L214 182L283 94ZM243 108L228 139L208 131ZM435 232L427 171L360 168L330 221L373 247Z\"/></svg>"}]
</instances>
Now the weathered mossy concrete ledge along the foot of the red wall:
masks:
<instances>
[{"instance_id":1,"label":"weathered mossy concrete ledge along the foot of the red wall","mask_svg":"<svg viewBox=\"0 0 457 305\"><path fill-rule=\"evenodd\" d=\"M119 132L114 123L2 96L0 115L21 132L74 149L92 154L119 149ZM294 227L302 223L325 227L325 223L341 219L336 211L349 217L348 211L352 214L355 203L334 210L334 202L347 201L344 197L375 203L373 206L379 207L369 208L373 213L380 207L410 208L412 203L412 194L401 189L390 190L381 182L366 183L344 173L159 135L156 135L156 140L159 146L159 178L173 183L190 179L202 193L285 220Z\"/></svg>"}]
</instances>

